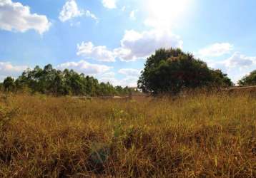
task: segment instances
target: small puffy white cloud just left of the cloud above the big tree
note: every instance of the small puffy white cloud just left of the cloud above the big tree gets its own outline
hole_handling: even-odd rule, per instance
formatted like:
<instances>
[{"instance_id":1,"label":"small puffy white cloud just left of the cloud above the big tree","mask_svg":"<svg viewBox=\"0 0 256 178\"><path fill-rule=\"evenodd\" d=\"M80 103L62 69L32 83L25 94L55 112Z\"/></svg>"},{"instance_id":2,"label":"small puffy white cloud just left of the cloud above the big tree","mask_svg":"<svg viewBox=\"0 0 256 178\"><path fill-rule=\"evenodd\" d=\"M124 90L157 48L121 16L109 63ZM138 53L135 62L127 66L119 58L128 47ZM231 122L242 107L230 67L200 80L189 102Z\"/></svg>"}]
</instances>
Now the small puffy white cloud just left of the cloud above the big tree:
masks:
<instances>
[{"instance_id":1,"label":"small puffy white cloud just left of the cloud above the big tree","mask_svg":"<svg viewBox=\"0 0 256 178\"><path fill-rule=\"evenodd\" d=\"M94 46L92 42L77 45L77 55L93 58L97 61L114 62L114 54L106 46Z\"/></svg>"}]
</instances>

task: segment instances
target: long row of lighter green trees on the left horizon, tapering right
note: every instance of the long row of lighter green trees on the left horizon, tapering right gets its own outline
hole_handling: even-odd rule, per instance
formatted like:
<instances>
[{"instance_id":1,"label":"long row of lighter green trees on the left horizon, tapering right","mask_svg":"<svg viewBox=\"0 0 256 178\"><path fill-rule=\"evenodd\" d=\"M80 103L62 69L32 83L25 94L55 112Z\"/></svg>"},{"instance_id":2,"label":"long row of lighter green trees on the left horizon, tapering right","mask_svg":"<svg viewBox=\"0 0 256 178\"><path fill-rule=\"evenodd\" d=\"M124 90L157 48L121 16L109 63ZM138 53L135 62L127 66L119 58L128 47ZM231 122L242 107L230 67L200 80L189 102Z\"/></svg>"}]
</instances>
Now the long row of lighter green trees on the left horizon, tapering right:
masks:
<instances>
[{"instance_id":1,"label":"long row of lighter green trees on the left horizon, tapering right","mask_svg":"<svg viewBox=\"0 0 256 178\"><path fill-rule=\"evenodd\" d=\"M128 87L99 83L96 78L74 70L56 70L51 64L44 68L36 66L33 70L24 70L16 80L7 77L1 83L1 88L5 92L29 91L51 95L109 96L128 95L132 92Z\"/></svg>"}]
</instances>

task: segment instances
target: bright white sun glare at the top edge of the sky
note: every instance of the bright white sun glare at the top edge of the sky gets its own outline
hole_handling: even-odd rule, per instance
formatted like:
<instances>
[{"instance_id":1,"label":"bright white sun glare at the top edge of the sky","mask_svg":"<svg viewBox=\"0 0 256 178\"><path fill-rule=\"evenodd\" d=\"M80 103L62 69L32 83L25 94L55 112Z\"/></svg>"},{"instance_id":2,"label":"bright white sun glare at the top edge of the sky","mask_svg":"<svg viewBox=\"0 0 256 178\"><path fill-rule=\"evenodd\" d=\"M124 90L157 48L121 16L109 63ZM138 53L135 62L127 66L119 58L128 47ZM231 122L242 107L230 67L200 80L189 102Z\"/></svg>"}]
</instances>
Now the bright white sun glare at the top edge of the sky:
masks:
<instances>
[{"instance_id":1,"label":"bright white sun glare at the top edge of the sky","mask_svg":"<svg viewBox=\"0 0 256 178\"><path fill-rule=\"evenodd\" d=\"M150 26L168 27L177 23L186 14L192 0L147 0Z\"/></svg>"}]
</instances>

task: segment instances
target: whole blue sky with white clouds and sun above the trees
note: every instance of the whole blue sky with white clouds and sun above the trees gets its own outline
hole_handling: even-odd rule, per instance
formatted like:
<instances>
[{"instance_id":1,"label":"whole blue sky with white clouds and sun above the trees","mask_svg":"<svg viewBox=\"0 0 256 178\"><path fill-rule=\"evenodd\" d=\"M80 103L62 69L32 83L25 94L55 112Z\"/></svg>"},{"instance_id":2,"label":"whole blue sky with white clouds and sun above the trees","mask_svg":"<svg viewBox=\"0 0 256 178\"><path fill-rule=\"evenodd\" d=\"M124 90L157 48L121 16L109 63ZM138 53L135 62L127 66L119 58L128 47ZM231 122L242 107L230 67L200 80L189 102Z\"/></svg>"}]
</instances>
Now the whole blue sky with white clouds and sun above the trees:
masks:
<instances>
[{"instance_id":1,"label":"whole blue sky with white clouds and sun above the trees","mask_svg":"<svg viewBox=\"0 0 256 178\"><path fill-rule=\"evenodd\" d=\"M255 0L0 0L0 81L51 63L137 86L147 57L182 48L234 83L256 69Z\"/></svg>"}]
</instances>

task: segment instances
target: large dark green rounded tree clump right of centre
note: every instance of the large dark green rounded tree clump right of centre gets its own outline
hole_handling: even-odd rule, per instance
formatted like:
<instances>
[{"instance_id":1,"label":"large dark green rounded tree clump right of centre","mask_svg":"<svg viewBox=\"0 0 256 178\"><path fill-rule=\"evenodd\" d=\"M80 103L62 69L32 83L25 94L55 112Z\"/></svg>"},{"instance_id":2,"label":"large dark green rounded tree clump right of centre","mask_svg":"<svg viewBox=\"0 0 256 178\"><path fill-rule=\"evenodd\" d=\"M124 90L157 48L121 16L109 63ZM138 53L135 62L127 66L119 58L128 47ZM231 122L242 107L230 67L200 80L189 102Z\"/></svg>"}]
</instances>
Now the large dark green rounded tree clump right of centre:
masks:
<instances>
[{"instance_id":1,"label":"large dark green rounded tree clump right of centre","mask_svg":"<svg viewBox=\"0 0 256 178\"><path fill-rule=\"evenodd\" d=\"M221 70L212 70L203 61L179 48L159 49L145 63L138 86L149 93L174 93L183 89L233 85Z\"/></svg>"}]
</instances>

